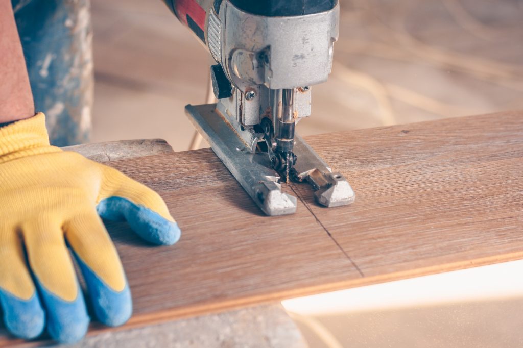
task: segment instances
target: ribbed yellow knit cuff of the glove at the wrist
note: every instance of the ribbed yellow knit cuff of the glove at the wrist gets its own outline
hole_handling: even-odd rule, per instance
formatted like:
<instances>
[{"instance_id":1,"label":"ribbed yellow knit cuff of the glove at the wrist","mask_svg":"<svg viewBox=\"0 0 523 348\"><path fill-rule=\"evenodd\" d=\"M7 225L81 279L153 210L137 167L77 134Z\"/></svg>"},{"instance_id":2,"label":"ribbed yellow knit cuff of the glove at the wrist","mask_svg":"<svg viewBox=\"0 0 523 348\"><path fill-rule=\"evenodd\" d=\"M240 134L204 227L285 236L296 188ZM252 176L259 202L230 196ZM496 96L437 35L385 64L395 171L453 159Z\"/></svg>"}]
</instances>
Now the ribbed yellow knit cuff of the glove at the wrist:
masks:
<instances>
[{"instance_id":1,"label":"ribbed yellow knit cuff of the glove at the wrist","mask_svg":"<svg viewBox=\"0 0 523 348\"><path fill-rule=\"evenodd\" d=\"M49 144L46 116L41 112L0 128L0 163L58 151L61 150Z\"/></svg>"}]
</instances>

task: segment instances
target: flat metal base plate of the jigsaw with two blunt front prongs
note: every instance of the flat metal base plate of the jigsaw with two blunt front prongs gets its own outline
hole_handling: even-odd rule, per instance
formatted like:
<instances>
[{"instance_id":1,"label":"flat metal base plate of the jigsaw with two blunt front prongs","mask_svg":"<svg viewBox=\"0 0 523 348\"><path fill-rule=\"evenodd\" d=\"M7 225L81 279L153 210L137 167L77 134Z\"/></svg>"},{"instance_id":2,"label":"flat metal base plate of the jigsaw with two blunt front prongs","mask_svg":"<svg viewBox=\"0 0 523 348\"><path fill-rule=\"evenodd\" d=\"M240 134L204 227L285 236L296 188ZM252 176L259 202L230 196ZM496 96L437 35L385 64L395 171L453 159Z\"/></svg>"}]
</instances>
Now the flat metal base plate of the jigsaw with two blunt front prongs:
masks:
<instances>
[{"instance_id":1,"label":"flat metal base plate of the jigsaw with two blunt front prongs","mask_svg":"<svg viewBox=\"0 0 523 348\"><path fill-rule=\"evenodd\" d=\"M295 197L281 192L280 176L271 168L266 153L253 153L234 127L216 110L215 104L188 105L186 113L198 132L211 145L236 180L267 215L293 214ZM294 153L298 161L291 169L297 181L308 181L315 189L316 201L327 207L354 202L355 194L340 173L332 173L327 164L296 135Z\"/></svg>"}]
</instances>

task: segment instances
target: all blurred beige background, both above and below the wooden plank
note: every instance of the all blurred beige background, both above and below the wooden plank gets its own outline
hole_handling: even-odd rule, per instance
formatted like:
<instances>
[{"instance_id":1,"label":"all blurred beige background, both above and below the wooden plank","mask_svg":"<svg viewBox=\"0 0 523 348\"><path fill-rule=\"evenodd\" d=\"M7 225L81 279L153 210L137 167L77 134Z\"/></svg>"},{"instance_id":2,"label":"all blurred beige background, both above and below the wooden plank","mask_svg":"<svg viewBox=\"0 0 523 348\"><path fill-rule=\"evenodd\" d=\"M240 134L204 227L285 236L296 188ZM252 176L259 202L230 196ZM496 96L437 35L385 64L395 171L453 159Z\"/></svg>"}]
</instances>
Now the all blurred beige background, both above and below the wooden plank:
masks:
<instances>
[{"instance_id":1,"label":"all blurred beige background, both above and below the wooden plank","mask_svg":"<svg viewBox=\"0 0 523 348\"><path fill-rule=\"evenodd\" d=\"M523 0L340 0L333 73L302 135L523 109ZM93 142L164 138L210 59L160 0L92 0ZM313 29L311 29L313 30ZM203 145L204 146L204 145ZM523 263L284 302L311 347L521 347Z\"/></svg>"}]
</instances>

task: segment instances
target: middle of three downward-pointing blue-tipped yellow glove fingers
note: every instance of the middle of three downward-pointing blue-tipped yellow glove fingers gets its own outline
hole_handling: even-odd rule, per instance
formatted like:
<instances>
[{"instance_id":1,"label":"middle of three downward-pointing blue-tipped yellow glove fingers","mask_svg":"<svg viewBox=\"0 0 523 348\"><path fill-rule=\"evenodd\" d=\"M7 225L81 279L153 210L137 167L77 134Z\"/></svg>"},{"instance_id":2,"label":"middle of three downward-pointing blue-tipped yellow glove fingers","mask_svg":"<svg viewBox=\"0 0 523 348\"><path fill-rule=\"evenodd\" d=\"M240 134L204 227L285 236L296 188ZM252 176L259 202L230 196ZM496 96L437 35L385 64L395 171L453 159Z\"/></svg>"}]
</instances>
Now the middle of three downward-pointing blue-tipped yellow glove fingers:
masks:
<instances>
[{"instance_id":1,"label":"middle of three downward-pointing blue-tipped yellow glove fingers","mask_svg":"<svg viewBox=\"0 0 523 348\"><path fill-rule=\"evenodd\" d=\"M29 265L47 312L47 331L62 343L82 339L89 317L60 225L38 222L22 230Z\"/></svg>"}]
</instances>

